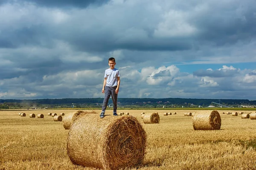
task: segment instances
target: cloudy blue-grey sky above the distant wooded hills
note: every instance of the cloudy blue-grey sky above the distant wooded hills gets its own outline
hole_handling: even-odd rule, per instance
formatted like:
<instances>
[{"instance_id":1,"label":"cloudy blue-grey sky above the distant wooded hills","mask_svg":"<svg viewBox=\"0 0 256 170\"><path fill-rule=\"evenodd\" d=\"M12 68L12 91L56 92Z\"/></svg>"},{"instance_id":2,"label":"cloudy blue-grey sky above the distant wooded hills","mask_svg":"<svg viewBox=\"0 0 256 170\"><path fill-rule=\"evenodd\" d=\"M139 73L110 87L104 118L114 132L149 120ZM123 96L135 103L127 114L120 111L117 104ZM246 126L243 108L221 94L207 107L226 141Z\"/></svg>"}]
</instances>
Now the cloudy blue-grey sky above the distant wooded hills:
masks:
<instances>
[{"instance_id":1,"label":"cloudy blue-grey sky above the distant wooded hills","mask_svg":"<svg viewBox=\"0 0 256 170\"><path fill-rule=\"evenodd\" d=\"M255 0L0 0L0 99L256 100Z\"/></svg>"}]
</instances>

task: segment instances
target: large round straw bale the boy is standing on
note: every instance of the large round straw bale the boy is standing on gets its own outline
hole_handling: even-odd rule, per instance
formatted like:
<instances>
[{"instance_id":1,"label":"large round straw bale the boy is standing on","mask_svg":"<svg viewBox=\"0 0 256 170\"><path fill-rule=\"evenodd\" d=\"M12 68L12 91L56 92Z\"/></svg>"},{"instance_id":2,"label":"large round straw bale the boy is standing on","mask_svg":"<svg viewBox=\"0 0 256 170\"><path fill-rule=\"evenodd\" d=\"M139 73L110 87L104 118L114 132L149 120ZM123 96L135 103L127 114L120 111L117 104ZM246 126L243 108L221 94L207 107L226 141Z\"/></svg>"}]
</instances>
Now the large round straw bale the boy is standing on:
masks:
<instances>
[{"instance_id":1,"label":"large round straw bale the boy is standing on","mask_svg":"<svg viewBox=\"0 0 256 170\"><path fill-rule=\"evenodd\" d=\"M85 114L70 127L67 154L73 164L104 170L143 163L146 133L133 116Z\"/></svg>"}]
</instances>

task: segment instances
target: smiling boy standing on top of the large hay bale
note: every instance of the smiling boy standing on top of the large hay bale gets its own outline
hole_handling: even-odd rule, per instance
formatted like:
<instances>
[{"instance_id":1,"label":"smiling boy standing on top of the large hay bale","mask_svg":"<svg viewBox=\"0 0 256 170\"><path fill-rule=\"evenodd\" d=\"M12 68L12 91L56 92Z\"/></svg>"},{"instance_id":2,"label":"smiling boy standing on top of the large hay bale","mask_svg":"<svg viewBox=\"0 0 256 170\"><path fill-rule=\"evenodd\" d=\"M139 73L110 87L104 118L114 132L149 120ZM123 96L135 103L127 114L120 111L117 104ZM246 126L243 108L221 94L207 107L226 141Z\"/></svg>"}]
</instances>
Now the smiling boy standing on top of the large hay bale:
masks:
<instances>
[{"instance_id":1,"label":"smiling boy standing on top of the large hay bale","mask_svg":"<svg viewBox=\"0 0 256 170\"><path fill-rule=\"evenodd\" d=\"M100 114L100 118L104 118L105 110L107 108L108 99L110 98L110 95L113 100L113 115L117 116L117 94L120 85L120 73L119 70L115 68L116 60L113 57L108 59L108 65L110 68L105 70L105 79L102 88L102 93L105 93L105 97L103 100L102 113Z\"/></svg>"}]
</instances>

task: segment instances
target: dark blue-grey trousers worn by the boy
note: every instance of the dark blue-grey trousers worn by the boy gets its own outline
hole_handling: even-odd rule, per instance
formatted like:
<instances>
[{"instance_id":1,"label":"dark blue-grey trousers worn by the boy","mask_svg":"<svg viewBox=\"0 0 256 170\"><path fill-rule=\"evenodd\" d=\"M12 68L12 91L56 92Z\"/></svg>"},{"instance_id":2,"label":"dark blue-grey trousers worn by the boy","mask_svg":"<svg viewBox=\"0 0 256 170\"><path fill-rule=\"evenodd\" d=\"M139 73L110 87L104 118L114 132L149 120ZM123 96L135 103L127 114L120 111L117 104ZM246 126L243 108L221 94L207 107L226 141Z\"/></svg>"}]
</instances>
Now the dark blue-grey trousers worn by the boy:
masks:
<instances>
[{"instance_id":1,"label":"dark blue-grey trousers worn by the boy","mask_svg":"<svg viewBox=\"0 0 256 170\"><path fill-rule=\"evenodd\" d=\"M115 87L105 86L105 89L104 89L105 96L104 96L104 100L103 100L103 104L102 104L102 113L105 113L110 95L111 95L112 101L113 101L113 113L116 113L116 109L117 109L116 88L117 88L117 86L115 86Z\"/></svg>"}]
</instances>

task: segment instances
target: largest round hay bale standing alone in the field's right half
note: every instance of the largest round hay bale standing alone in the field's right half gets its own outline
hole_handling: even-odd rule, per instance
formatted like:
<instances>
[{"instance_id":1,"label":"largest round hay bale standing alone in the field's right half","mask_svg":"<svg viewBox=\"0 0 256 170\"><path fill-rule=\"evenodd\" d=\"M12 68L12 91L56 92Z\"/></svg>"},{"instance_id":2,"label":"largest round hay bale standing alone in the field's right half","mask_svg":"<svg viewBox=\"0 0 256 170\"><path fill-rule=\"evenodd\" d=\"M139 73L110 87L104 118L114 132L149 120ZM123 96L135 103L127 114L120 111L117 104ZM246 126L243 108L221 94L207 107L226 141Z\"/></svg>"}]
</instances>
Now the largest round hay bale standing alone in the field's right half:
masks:
<instances>
[{"instance_id":1,"label":"largest round hay bale standing alone in the field's right half","mask_svg":"<svg viewBox=\"0 0 256 170\"><path fill-rule=\"evenodd\" d=\"M192 118L194 130L219 130L221 116L218 111L198 111Z\"/></svg>"}]
</instances>

